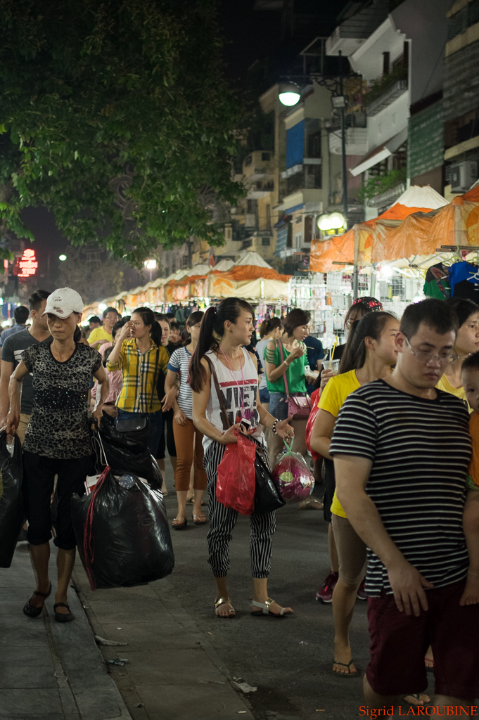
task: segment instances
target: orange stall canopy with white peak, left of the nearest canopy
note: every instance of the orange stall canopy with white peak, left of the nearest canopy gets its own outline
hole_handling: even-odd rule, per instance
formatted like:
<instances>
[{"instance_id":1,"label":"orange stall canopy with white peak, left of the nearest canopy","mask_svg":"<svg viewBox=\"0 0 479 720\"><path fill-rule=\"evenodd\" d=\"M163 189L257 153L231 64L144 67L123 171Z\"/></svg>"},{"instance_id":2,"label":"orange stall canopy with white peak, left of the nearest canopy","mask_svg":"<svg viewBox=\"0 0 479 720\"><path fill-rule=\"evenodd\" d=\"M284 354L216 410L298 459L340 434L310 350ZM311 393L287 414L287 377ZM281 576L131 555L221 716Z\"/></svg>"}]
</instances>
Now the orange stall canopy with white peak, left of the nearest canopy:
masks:
<instances>
[{"instance_id":1,"label":"orange stall canopy with white peak, left of the nearest canopy","mask_svg":"<svg viewBox=\"0 0 479 720\"><path fill-rule=\"evenodd\" d=\"M411 243L411 237L403 240L405 247L409 248L408 242L414 246L413 252L408 255L395 256L389 258L390 252L385 248L386 238L396 228L403 225L403 221L413 214L419 214L422 217L431 211L438 210L447 206L447 200L439 195L429 185L419 187L413 185L404 192L398 200L388 210L373 220L367 220L358 225L354 225L344 235L329 238L328 240L313 240L311 243L310 254L310 270L314 272L328 272L339 269L339 264L368 265L373 262L385 259L399 259L409 257L416 254L427 254L427 251L416 251L418 242ZM424 229L428 220L424 220ZM409 225L408 225L409 227ZM411 229L413 223L411 223ZM394 239L392 247L398 247L397 236ZM434 247L434 252L435 252ZM386 254L388 258L386 258Z\"/></svg>"}]
</instances>

